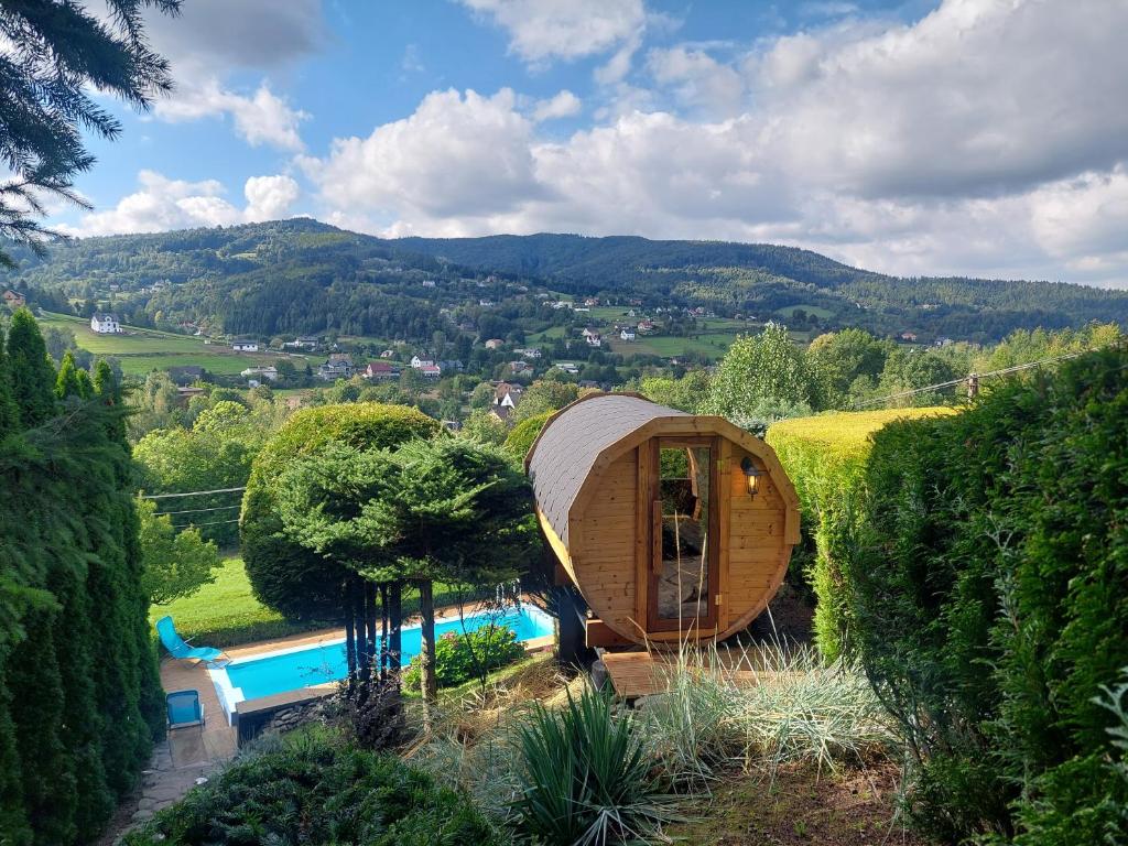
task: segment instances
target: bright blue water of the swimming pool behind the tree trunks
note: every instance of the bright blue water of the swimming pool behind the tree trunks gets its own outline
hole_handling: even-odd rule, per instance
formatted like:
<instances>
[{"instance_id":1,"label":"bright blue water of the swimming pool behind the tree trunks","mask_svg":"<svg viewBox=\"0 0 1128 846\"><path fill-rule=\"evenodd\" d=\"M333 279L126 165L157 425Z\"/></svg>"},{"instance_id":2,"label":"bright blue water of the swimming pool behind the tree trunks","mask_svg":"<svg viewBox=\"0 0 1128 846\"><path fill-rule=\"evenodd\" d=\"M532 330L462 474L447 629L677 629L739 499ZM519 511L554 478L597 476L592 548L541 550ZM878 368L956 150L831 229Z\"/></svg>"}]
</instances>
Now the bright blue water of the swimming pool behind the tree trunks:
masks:
<instances>
[{"instance_id":1,"label":"bright blue water of the swimming pool behind the tree trunks","mask_svg":"<svg viewBox=\"0 0 1128 846\"><path fill-rule=\"evenodd\" d=\"M477 614L467 616L465 620L467 632L477 631L491 623L513 629L518 641L531 641L553 634L552 617L539 608L528 605L503 616ZM435 637L442 637L448 632L461 634L462 622L455 617L435 623ZM420 653L421 640L418 626L404 628L402 655L404 666ZM221 672L227 673L228 681L228 685L222 685L217 679L217 687L228 688L226 695L221 691L223 699L257 699L259 696L271 696L300 687L324 685L345 677L347 672L345 644L344 641L327 642L300 650L288 650L262 658L235 661L223 668ZM228 703L229 706L233 706L233 702Z\"/></svg>"}]
</instances>

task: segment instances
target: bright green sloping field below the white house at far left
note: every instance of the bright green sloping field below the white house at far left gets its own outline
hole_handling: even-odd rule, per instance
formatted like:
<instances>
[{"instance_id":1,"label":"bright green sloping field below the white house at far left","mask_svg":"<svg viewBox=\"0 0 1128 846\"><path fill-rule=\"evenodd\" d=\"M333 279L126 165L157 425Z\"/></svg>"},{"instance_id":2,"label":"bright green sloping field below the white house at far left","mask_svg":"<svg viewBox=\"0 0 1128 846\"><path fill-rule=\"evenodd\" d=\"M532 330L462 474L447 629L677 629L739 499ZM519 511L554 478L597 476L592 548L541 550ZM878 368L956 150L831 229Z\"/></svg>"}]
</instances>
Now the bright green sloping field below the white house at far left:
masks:
<instances>
[{"instance_id":1,"label":"bright green sloping field below the white house at far left","mask_svg":"<svg viewBox=\"0 0 1128 846\"><path fill-rule=\"evenodd\" d=\"M233 376L248 367L268 364L279 354L237 353L226 344L204 344L202 337L126 326L121 335L99 335L88 320L68 315L45 314L43 326L69 329L79 347L99 356L114 356L127 376L143 376L150 370L197 365L219 376Z\"/></svg>"}]
</instances>

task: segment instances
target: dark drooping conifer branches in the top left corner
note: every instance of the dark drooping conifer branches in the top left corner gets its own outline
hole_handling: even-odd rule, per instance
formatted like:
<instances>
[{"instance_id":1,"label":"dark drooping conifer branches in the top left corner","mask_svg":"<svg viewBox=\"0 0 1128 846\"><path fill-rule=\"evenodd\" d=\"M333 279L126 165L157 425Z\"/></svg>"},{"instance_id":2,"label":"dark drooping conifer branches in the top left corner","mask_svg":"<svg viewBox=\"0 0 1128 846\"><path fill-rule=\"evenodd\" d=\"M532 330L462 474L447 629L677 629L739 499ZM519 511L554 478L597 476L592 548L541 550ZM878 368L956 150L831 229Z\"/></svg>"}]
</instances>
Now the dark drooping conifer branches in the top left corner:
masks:
<instances>
[{"instance_id":1,"label":"dark drooping conifer branches in the top left corner","mask_svg":"<svg viewBox=\"0 0 1128 846\"><path fill-rule=\"evenodd\" d=\"M72 191L73 178L94 165L85 132L113 140L121 123L92 91L114 95L148 111L173 81L168 62L144 38L142 11L179 11L179 0L107 0L109 15L78 2L5 2L0 33L0 160L12 174L0 185L0 235L42 249L54 235L34 219L44 196L89 204ZM11 265L0 252L0 264Z\"/></svg>"}]
</instances>

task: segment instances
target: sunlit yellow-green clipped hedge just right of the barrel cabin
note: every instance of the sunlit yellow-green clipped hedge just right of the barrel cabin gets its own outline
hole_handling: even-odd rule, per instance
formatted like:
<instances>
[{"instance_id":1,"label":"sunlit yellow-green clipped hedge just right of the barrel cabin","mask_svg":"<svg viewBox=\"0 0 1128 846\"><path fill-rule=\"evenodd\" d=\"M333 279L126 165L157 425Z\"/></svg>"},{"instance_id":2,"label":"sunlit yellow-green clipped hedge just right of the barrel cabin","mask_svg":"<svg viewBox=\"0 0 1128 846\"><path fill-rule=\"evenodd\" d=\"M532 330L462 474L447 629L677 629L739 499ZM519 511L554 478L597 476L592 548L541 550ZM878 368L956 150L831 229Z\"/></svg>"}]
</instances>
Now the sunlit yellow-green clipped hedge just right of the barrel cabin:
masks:
<instances>
[{"instance_id":1,"label":"sunlit yellow-green clipped hedge just right of the barrel cabin","mask_svg":"<svg viewBox=\"0 0 1128 846\"><path fill-rule=\"evenodd\" d=\"M848 645L849 596L841 562L857 532L858 494L871 437L896 420L951 413L940 407L846 412L795 417L768 429L765 440L779 457L802 505L803 545L795 558L805 564L804 575L814 591L814 638L827 661Z\"/></svg>"}]
</instances>

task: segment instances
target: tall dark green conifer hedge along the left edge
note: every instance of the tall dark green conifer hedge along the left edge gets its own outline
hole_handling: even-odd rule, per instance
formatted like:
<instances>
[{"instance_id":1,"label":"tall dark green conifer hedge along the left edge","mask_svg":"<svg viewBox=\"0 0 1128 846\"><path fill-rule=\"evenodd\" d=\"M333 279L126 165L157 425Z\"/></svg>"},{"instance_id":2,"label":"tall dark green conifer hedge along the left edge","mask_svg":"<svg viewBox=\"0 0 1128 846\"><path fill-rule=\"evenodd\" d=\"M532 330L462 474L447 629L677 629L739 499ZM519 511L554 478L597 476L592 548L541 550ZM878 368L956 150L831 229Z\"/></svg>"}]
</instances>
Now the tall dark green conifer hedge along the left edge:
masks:
<instances>
[{"instance_id":1,"label":"tall dark green conifer hedge along the left edge","mask_svg":"<svg viewBox=\"0 0 1128 846\"><path fill-rule=\"evenodd\" d=\"M3 346L0 333L0 347ZM121 391L30 312L0 350L0 844L94 840L135 786L164 703L141 589Z\"/></svg>"}]
</instances>

